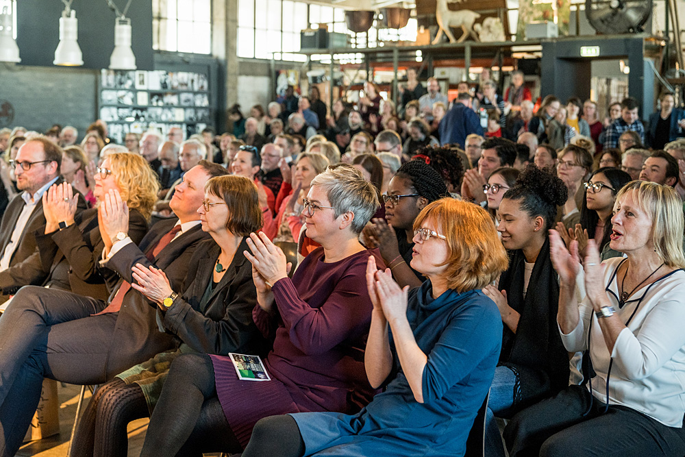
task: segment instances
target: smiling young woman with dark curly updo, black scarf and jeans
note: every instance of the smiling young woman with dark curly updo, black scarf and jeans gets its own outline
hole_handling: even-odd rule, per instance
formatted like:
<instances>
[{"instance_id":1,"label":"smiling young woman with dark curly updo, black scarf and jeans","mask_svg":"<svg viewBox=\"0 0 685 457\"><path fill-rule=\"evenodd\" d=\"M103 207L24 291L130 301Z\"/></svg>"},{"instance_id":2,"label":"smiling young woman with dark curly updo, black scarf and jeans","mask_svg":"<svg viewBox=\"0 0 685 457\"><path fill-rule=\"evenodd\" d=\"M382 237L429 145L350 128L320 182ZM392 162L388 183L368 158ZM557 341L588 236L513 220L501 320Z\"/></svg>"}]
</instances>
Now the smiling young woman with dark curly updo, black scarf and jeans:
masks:
<instances>
[{"instance_id":1,"label":"smiling young woman with dark curly updo, black scarf and jeans","mask_svg":"<svg viewBox=\"0 0 685 457\"><path fill-rule=\"evenodd\" d=\"M547 235L567 192L560 178L529 165L499 205L497 231L509 251L509 268L497 287L483 290L497 304L504 324L488 402L488 456L504 455L495 416L511 417L569 385L569 357L554 319L559 280Z\"/></svg>"}]
</instances>

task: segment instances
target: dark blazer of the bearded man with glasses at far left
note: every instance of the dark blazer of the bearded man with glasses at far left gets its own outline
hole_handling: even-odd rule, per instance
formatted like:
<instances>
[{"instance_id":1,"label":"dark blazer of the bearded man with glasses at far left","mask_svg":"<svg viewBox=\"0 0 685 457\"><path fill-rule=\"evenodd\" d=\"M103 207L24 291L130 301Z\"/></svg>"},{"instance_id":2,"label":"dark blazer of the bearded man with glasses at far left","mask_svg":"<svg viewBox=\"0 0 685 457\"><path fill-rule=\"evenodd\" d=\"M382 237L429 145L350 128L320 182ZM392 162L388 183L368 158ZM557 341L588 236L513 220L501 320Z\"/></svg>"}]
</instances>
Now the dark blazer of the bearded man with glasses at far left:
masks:
<instances>
[{"instance_id":1,"label":"dark blazer of the bearded man with glasses at far left","mask_svg":"<svg viewBox=\"0 0 685 457\"><path fill-rule=\"evenodd\" d=\"M55 184L62 184L64 180L58 178ZM5 251L5 247L10 243L12 232L16 225L21 211L24 209L25 202L21 198L21 193L16 195L3 214L0 223L0 256ZM86 200L79 194L77 203L77 214L85 210L88 206ZM36 245L36 230L45 227L45 215L42 212L42 201L38 201L29 220L24 227L24 231L19 238L19 243L14 249L10 268L0 272L0 303L7 301L8 295L15 293L16 289L27 284L40 285L45 281L47 272L42 269L40 253ZM4 294L4 295L3 295Z\"/></svg>"}]
</instances>

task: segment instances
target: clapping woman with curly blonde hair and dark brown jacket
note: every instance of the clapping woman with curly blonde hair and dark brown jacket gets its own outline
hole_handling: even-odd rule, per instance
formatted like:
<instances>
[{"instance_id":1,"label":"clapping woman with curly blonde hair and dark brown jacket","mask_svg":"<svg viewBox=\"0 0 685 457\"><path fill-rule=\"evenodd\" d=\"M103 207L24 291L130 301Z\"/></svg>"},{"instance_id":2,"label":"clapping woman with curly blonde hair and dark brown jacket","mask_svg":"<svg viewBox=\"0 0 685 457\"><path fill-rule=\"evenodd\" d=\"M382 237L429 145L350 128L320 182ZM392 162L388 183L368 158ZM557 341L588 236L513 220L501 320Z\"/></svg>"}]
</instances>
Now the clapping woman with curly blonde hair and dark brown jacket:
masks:
<instances>
[{"instance_id":1,"label":"clapping woman with curly blonde hair and dark brown jacket","mask_svg":"<svg viewBox=\"0 0 685 457\"><path fill-rule=\"evenodd\" d=\"M127 234L138 244L147 233L159 184L145 158L132 153L110 154L92 179L96 208L80 214L76 214L78 195L71 184L64 182L49 188L43 195L45 232L36 236L36 243L41 253L58 249L64 253L45 256L48 262L54 259L42 265L51 272L51 287L106 300L109 293L105 284L118 278L99 263L105 245L112 245L112 240L103 239L99 230L99 205L105 198L121 195L129 208Z\"/></svg>"}]
</instances>

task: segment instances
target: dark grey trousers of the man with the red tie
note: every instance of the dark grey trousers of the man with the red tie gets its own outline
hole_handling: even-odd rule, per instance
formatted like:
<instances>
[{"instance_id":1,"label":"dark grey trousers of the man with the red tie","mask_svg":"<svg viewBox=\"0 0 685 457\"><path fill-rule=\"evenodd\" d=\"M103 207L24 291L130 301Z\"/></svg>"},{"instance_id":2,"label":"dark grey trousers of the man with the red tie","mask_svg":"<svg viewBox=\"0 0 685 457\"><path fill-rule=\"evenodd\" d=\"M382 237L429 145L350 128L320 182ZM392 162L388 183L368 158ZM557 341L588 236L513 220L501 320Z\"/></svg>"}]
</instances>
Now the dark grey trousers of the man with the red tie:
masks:
<instances>
[{"instance_id":1,"label":"dark grey trousers of the man with the red tie","mask_svg":"<svg viewBox=\"0 0 685 457\"><path fill-rule=\"evenodd\" d=\"M101 300L36 286L14 296L0 317L0 456L16 454L44 377L106 381L116 314L90 316L104 307Z\"/></svg>"}]
</instances>

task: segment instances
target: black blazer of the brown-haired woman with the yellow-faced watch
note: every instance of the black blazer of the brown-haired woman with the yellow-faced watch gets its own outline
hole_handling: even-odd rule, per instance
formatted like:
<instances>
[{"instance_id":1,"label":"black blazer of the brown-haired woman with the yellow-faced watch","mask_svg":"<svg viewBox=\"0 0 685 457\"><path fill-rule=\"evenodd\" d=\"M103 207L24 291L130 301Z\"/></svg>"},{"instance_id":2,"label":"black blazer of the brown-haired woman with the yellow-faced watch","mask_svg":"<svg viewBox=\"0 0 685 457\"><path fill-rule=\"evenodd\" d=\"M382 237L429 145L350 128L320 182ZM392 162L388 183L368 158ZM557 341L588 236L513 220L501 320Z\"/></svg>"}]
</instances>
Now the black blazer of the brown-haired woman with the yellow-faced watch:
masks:
<instances>
[{"instance_id":1,"label":"black blazer of the brown-haired woman with the yellow-faced watch","mask_svg":"<svg viewBox=\"0 0 685 457\"><path fill-rule=\"evenodd\" d=\"M206 304L201 299L212 281L221 247L214 240L202 241L190 260L184 293L160 315L164 328L192 349L205 354L229 352L266 356L271 343L266 341L252 319L257 290L252 267L242 254L248 249L245 239Z\"/></svg>"}]
</instances>

